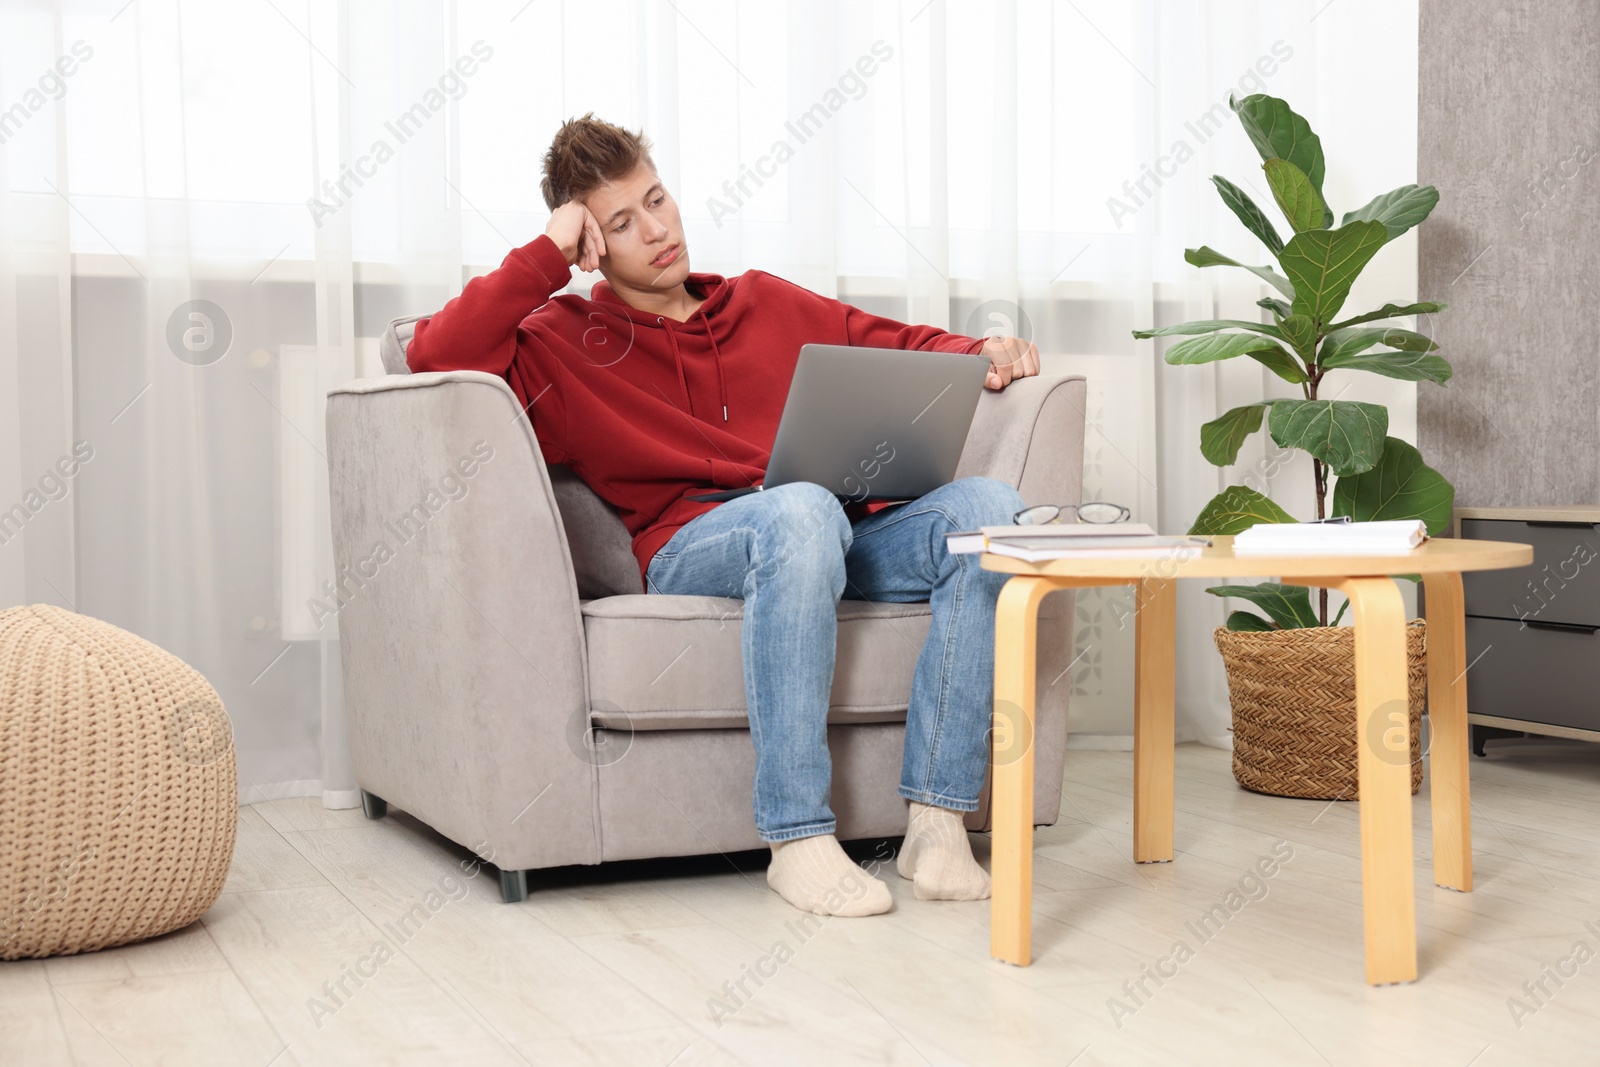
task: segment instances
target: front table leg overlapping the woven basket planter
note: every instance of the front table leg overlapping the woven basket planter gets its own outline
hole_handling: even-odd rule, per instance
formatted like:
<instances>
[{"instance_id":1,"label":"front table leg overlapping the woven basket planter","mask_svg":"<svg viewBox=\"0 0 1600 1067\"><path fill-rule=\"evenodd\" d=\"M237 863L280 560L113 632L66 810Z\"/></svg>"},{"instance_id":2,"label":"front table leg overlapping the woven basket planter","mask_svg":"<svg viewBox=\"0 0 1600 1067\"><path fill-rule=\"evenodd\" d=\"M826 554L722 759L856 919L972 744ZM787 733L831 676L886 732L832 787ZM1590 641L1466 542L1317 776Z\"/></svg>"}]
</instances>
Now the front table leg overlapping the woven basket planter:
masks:
<instances>
[{"instance_id":1,"label":"front table leg overlapping the woven basket planter","mask_svg":"<svg viewBox=\"0 0 1600 1067\"><path fill-rule=\"evenodd\" d=\"M1416 888L1405 605L1390 577L1350 577L1339 587L1350 598L1355 619L1366 981L1410 982L1416 979Z\"/></svg>"}]
</instances>

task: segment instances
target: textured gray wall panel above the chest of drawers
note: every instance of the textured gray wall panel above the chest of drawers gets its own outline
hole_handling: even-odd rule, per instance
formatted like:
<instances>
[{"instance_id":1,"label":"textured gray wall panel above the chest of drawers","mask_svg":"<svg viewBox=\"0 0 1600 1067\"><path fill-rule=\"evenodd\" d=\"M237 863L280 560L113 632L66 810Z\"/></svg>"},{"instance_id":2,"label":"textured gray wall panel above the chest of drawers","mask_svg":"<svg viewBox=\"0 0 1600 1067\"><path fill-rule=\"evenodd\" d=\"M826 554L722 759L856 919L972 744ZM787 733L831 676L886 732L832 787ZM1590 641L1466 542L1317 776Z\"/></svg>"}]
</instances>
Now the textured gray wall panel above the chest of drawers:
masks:
<instances>
[{"instance_id":1,"label":"textured gray wall panel above the chest of drawers","mask_svg":"<svg viewBox=\"0 0 1600 1067\"><path fill-rule=\"evenodd\" d=\"M1419 42L1419 446L1461 506L1597 502L1600 3L1422 0Z\"/></svg>"}]
</instances>

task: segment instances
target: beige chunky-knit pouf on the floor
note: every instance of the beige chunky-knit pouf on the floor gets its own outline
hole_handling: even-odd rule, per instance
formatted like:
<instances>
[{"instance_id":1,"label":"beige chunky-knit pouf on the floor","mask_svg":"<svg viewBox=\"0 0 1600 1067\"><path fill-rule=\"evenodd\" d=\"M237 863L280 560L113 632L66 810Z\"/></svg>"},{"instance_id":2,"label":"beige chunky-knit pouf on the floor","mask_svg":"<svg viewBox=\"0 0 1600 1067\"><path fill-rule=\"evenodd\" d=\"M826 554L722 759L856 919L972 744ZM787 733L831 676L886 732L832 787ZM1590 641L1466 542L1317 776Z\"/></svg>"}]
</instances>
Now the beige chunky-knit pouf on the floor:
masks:
<instances>
[{"instance_id":1,"label":"beige chunky-knit pouf on the floor","mask_svg":"<svg viewBox=\"0 0 1600 1067\"><path fill-rule=\"evenodd\" d=\"M0 611L0 960L187 926L237 829L227 712L194 667L50 605Z\"/></svg>"}]
</instances>

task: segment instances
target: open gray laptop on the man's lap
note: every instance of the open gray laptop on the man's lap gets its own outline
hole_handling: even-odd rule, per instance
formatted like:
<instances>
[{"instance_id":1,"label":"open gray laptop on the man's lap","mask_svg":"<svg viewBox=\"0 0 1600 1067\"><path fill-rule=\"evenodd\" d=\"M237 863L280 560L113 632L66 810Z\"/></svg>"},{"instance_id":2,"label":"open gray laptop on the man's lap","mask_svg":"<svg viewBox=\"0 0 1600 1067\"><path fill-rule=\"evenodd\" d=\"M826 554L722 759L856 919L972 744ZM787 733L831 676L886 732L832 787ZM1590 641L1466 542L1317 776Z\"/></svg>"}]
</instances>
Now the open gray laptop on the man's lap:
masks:
<instances>
[{"instance_id":1,"label":"open gray laptop on the man's lap","mask_svg":"<svg viewBox=\"0 0 1600 1067\"><path fill-rule=\"evenodd\" d=\"M984 355L808 344L762 485L688 499L731 501L790 482L846 502L917 499L955 477L987 374Z\"/></svg>"}]
</instances>

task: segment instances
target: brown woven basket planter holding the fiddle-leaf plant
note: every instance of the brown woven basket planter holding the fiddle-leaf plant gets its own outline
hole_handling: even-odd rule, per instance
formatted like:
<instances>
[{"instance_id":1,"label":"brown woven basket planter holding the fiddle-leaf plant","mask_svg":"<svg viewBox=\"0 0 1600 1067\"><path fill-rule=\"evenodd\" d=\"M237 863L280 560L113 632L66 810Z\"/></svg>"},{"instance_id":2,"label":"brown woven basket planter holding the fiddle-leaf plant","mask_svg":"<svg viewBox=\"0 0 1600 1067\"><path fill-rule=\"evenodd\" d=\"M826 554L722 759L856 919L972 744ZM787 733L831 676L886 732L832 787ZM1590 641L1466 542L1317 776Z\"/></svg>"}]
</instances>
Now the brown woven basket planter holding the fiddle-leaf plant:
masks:
<instances>
[{"instance_id":1,"label":"brown woven basket planter holding the fiddle-leaf plant","mask_svg":"<svg viewBox=\"0 0 1600 1067\"><path fill-rule=\"evenodd\" d=\"M1411 792L1422 784L1427 638L1406 625ZM1216 627L1234 705L1234 777L1275 797L1357 800L1355 630L1318 625L1246 632Z\"/></svg>"}]
</instances>

